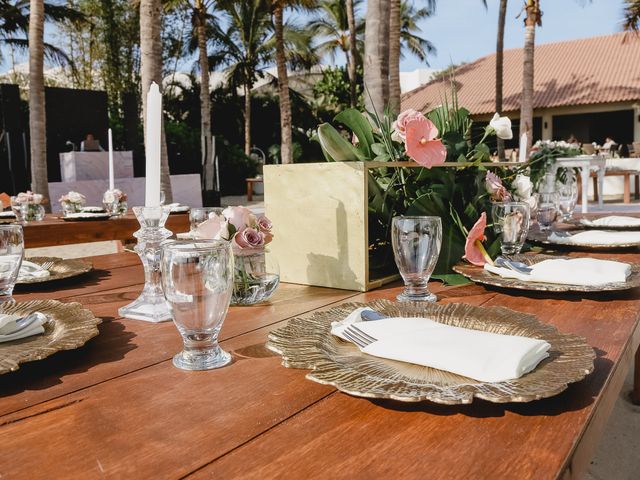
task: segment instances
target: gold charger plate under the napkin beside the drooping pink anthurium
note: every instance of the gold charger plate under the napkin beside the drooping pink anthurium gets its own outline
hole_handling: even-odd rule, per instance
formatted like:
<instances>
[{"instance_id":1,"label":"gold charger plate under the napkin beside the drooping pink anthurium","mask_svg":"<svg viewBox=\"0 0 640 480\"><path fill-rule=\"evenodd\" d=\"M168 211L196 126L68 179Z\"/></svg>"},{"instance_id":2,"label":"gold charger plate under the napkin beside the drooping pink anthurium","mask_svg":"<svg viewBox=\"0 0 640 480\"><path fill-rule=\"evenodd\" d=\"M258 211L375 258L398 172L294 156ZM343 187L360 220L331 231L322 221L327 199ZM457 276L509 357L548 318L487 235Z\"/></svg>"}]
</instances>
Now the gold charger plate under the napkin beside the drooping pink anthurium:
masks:
<instances>
[{"instance_id":1,"label":"gold charger plate under the napkin beside the drooping pink anthurium","mask_svg":"<svg viewBox=\"0 0 640 480\"><path fill-rule=\"evenodd\" d=\"M512 255L512 260L522 262L527 265L534 265L543 260L549 259L569 259L571 257L558 257L553 255ZM515 288L518 290L533 290L541 292L608 292L617 290L629 290L640 287L640 265L631 264L631 274L623 283L607 283L604 285L561 285L557 283L523 282L515 278L502 278L491 273L482 267L476 267L469 263L458 263L453 270L460 275L467 277L475 283L492 285L494 287Z\"/></svg>"}]
</instances>

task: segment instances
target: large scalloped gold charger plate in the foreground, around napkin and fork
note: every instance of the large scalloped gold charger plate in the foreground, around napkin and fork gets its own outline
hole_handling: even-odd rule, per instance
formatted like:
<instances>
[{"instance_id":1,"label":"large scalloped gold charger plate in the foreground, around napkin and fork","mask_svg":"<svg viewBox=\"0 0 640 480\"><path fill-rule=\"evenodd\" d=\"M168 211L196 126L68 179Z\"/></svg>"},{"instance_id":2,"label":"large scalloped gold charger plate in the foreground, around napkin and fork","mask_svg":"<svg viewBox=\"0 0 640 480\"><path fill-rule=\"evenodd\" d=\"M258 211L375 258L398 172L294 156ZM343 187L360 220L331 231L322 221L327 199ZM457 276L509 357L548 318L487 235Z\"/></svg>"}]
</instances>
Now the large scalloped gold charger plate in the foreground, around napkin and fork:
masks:
<instances>
[{"instance_id":1,"label":"large scalloped gold charger plate in the foreground, around napkin and fork","mask_svg":"<svg viewBox=\"0 0 640 480\"><path fill-rule=\"evenodd\" d=\"M366 355L330 333L331 322L368 306L388 316L424 316L474 330L540 338L551 344L549 358L519 379L487 383L410 363ZM330 310L291 319L269 334L267 348L282 356L288 368L311 372L309 380L367 398L403 402L429 400L447 405L468 404L474 398L495 403L529 402L557 395L567 385L593 371L595 353L586 341L560 333L537 317L504 307L476 307L462 303L400 304L377 300L346 303Z\"/></svg>"}]
</instances>

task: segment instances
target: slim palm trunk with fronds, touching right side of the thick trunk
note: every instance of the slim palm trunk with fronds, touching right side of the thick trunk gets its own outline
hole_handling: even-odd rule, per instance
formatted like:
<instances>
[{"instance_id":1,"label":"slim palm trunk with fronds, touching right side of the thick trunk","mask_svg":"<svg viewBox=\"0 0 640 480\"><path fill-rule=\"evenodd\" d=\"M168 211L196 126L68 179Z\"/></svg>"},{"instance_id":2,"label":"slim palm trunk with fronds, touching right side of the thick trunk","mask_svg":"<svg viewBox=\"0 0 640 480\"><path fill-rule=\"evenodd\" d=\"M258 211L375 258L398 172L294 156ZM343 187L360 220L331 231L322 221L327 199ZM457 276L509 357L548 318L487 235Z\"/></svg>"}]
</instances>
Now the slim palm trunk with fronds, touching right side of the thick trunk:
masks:
<instances>
[{"instance_id":1,"label":"slim palm trunk with fronds, touching right side of the thick trunk","mask_svg":"<svg viewBox=\"0 0 640 480\"><path fill-rule=\"evenodd\" d=\"M415 55L427 65L427 55L435 53L434 45L419 36L422 32L418 22L435 12L436 0L427 0L426 6L415 8L413 3L391 0L389 19L389 106L393 112L400 111L400 59L404 51Z\"/></svg>"}]
</instances>

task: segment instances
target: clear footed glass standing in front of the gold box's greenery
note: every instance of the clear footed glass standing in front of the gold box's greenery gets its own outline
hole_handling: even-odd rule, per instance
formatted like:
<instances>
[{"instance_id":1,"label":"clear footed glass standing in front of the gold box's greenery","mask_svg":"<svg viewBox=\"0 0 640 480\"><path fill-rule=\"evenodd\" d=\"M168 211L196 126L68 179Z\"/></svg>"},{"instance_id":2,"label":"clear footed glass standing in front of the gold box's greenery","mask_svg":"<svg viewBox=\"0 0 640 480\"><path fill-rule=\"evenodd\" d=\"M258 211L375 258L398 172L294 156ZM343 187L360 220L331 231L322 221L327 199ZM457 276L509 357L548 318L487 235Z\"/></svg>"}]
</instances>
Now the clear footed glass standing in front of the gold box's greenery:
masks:
<instances>
[{"instance_id":1,"label":"clear footed glass standing in front of the gold box's greenery","mask_svg":"<svg viewBox=\"0 0 640 480\"><path fill-rule=\"evenodd\" d=\"M440 217L394 217L391 243L396 265L404 280L398 300L435 302L427 282L440 255L442 222Z\"/></svg>"}]
</instances>

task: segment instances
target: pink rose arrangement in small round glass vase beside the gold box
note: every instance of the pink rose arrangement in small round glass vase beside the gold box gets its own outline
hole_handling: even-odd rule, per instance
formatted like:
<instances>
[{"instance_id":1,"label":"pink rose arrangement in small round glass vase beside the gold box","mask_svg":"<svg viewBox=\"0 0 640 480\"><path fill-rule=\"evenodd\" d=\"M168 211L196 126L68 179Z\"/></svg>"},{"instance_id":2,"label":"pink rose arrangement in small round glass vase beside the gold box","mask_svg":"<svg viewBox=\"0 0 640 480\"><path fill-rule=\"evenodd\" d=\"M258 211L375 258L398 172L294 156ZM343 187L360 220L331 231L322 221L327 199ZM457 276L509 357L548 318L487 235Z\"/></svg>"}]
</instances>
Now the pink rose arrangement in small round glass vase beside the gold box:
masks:
<instances>
[{"instance_id":1,"label":"pink rose arrangement in small round glass vase beside the gold box","mask_svg":"<svg viewBox=\"0 0 640 480\"><path fill-rule=\"evenodd\" d=\"M273 240L273 225L245 207L227 207L210 214L196 227L196 239L231 242L234 255L234 287L231 303L252 305L267 300L280 281L273 260L267 263L266 246Z\"/></svg>"}]
</instances>

